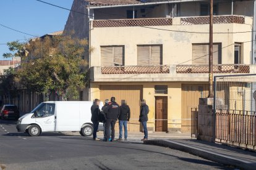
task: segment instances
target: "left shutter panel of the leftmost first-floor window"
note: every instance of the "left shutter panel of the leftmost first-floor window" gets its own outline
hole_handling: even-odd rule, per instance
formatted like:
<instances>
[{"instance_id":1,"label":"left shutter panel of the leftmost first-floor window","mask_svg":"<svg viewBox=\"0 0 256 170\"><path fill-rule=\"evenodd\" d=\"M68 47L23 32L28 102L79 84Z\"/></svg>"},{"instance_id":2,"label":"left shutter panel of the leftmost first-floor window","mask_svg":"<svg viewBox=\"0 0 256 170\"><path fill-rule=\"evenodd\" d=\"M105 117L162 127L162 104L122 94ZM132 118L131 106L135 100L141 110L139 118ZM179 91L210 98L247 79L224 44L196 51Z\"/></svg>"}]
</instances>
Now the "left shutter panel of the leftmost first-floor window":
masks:
<instances>
[{"instance_id":1,"label":"left shutter panel of the leftmost first-floor window","mask_svg":"<svg viewBox=\"0 0 256 170\"><path fill-rule=\"evenodd\" d=\"M101 47L101 66L113 66L113 47Z\"/></svg>"}]
</instances>

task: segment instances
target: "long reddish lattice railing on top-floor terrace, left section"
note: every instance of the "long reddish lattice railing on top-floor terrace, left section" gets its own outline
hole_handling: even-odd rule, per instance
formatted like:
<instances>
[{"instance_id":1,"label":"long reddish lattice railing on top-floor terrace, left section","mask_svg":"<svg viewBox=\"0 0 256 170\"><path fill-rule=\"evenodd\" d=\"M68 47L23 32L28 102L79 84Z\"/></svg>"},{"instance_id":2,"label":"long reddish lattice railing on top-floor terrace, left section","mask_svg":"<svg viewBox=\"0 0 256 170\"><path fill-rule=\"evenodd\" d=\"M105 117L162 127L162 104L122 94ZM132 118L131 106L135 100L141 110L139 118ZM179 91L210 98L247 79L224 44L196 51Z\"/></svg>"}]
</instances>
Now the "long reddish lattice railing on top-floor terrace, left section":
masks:
<instances>
[{"instance_id":1,"label":"long reddish lattice railing on top-floor terrace, left section","mask_svg":"<svg viewBox=\"0 0 256 170\"><path fill-rule=\"evenodd\" d=\"M93 27L121 27L121 26L163 26L173 25L172 18L143 18L122 20L93 20Z\"/></svg>"}]
</instances>

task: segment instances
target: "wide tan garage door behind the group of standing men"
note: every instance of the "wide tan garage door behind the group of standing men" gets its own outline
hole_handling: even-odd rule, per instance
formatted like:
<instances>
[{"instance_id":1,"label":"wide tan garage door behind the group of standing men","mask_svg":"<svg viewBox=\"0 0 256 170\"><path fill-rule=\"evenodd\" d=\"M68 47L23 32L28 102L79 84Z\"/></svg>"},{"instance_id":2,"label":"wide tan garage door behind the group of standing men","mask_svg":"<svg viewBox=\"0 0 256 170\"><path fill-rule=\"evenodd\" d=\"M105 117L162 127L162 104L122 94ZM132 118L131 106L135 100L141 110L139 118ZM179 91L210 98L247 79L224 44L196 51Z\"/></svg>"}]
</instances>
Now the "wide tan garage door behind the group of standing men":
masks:
<instances>
[{"instance_id":1,"label":"wide tan garage door behind the group of standing men","mask_svg":"<svg viewBox=\"0 0 256 170\"><path fill-rule=\"evenodd\" d=\"M100 100L104 101L114 96L116 102L121 105L121 100L126 100L130 107L130 122L128 123L128 131L140 131L139 100L142 99L142 86L100 86ZM118 123L116 124L118 129Z\"/></svg>"}]
</instances>

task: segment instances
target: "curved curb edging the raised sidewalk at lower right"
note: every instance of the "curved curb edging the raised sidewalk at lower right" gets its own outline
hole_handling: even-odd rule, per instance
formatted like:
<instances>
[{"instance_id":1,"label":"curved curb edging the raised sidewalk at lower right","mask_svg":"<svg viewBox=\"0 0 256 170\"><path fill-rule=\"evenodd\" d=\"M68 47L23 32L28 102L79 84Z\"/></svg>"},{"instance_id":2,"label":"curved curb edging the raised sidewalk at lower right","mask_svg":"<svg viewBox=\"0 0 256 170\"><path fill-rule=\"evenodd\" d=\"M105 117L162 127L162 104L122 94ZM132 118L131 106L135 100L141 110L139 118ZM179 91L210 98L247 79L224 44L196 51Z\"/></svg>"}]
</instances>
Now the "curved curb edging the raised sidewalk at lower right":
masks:
<instances>
[{"instance_id":1,"label":"curved curb edging the raised sidewalk at lower right","mask_svg":"<svg viewBox=\"0 0 256 170\"><path fill-rule=\"evenodd\" d=\"M203 150L201 148L190 147L189 145L184 145L179 142L174 142L171 140L145 140L143 144L146 145L158 145L161 147L169 147L175 150L180 150L182 152L187 152L192 155L197 155L210 161L215 161L217 163L232 165L243 169L255 169L256 163L252 161L245 161L231 156L210 152L208 150Z\"/></svg>"}]
</instances>

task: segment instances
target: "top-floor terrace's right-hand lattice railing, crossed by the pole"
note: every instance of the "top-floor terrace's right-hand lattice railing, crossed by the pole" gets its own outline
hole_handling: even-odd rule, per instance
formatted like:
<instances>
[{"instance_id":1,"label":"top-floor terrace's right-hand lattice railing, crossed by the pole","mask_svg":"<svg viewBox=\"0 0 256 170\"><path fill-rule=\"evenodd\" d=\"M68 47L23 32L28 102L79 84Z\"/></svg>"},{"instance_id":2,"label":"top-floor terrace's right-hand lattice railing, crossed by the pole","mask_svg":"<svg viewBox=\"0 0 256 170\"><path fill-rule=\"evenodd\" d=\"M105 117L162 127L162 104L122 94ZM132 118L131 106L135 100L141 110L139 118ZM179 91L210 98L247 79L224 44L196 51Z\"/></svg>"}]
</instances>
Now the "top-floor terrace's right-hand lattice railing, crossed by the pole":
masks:
<instances>
[{"instance_id":1,"label":"top-floor terrace's right-hand lattice railing, crossed by the pole","mask_svg":"<svg viewBox=\"0 0 256 170\"><path fill-rule=\"evenodd\" d=\"M209 24L209 17L182 17L181 18L181 25L200 25L200 24ZM213 23L245 23L244 16L238 15L220 15L213 17Z\"/></svg>"}]
</instances>

